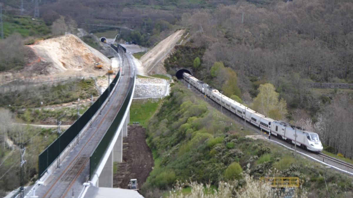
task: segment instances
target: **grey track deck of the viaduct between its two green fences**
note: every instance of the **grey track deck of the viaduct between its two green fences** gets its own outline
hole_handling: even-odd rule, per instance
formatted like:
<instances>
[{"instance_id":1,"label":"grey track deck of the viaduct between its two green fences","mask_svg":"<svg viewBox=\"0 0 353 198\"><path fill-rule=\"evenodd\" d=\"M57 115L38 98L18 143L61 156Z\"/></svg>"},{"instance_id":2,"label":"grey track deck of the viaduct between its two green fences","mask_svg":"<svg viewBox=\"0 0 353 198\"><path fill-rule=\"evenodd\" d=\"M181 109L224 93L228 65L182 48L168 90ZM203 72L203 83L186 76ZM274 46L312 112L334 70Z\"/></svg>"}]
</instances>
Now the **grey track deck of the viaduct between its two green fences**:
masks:
<instances>
[{"instance_id":1,"label":"grey track deck of the viaduct between its two green fences","mask_svg":"<svg viewBox=\"0 0 353 198\"><path fill-rule=\"evenodd\" d=\"M126 60L128 56L125 55ZM46 198L77 197L83 189L83 183L89 180L89 157L108 130L118 113L128 92L131 78L134 74L132 61L125 61L123 74L107 105L92 123L85 135L79 140L68 156L61 162L60 168L38 187L36 195Z\"/></svg>"}]
</instances>

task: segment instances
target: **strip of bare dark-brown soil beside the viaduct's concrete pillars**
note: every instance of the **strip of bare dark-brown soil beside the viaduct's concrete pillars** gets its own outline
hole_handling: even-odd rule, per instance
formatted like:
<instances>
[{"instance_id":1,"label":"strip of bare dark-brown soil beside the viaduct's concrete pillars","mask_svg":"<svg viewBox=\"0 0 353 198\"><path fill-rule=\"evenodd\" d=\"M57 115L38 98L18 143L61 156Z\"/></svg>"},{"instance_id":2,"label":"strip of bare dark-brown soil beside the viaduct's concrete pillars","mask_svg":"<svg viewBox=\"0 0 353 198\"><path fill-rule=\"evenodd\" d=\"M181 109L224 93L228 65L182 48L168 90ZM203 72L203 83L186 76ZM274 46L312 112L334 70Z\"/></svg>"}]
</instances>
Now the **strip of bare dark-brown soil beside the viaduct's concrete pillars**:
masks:
<instances>
[{"instance_id":1,"label":"strip of bare dark-brown soil beside the viaduct's concrete pillars","mask_svg":"<svg viewBox=\"0 0 353 198\"><path fill-rule=\"evenodd\" d=\"M127 188L130 179L137 179L140 188L154 166L151 149L146 144L146 130L139 125L128 125L124 137L122 162L113 175L114 188Z\"/></svg>"}]
</instances>

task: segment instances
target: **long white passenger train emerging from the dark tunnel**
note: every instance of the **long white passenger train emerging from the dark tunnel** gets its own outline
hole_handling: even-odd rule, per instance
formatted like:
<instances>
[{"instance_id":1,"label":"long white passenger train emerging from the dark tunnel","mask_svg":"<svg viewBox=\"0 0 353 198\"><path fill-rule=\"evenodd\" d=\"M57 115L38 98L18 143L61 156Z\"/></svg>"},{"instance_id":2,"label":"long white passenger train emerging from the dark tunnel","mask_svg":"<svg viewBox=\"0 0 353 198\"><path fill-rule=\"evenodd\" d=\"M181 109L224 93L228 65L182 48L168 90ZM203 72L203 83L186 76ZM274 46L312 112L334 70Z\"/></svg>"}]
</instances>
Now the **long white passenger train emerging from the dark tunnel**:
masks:
<instances>
[{"instance_id":1,"label":"long white passenger train emerging from the dark tunnel","mask_svg":"<svg viewBox=\"0 0 353 198\"><path fill-rule=\"evenodd\" d=\"M264 131L271 131L271 135L275 135L289 143L295 143L295 128L293 125L261 115L237 101L222 95L217 89L208 86L206 83L203 83L201 80L198 80L188 73L183 73L183 79L240 118L245 119L247 122L250 122ZM301 128L297 128L296 131L297 146L315 152L322 151L323 146L316 133L305 131Z\"/></svg>"}]
</instances>

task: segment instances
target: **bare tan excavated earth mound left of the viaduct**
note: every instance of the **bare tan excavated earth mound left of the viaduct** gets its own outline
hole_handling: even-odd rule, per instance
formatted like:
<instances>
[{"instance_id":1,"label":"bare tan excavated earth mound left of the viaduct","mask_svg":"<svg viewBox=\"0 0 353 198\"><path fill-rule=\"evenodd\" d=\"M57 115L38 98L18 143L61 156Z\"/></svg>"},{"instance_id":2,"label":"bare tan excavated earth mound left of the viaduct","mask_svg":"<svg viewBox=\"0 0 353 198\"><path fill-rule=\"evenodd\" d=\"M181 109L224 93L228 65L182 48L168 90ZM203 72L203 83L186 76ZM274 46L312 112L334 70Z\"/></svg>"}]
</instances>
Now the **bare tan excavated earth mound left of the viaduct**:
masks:
<instances>
[{"instance_id":1,"label":"bare tan excavated earth mound left of the viaduct","mask_svg":"<svg viewBox=\"0 0 353 198\"><path fill-rule=\"evenodd\" d=\"M0 73L0 85L104 75L111 64L101 52L74 35L59 36L27 45L25 61L26 66L21 70ZM96 62L102 63L103 69L95 69Z\"/></svg>"}]
</instances>

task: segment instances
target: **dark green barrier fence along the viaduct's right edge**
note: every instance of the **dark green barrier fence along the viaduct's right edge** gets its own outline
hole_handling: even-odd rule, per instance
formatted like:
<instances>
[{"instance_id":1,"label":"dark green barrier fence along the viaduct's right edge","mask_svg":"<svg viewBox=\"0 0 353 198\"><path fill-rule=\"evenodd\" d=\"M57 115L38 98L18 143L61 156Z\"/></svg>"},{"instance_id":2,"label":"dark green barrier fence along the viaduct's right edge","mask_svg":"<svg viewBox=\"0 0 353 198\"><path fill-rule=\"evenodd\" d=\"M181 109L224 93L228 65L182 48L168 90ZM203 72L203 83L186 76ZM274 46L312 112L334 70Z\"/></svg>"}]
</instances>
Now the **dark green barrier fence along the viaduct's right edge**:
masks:
<instances>
[{"instance_id":1,"label":"dark green barrier fence along the viaduct's right edge","mask_svg":"<svg viewBox=\"0 0 353 198\"><path fill-rule=\"evenodd\" d=\"M112 125L110 125L106 134L104 134L104 136L101 138L99 144L97 145L94 152L90 156L90 180L92 180L92 178L98 168L98 165L100 164L100 162L104 156L104 153L106 153L106 150L108 149L108 146L115 135L116 130L118 129L120 123L123 122L122 118L124 117L124 114L127 110L127 106L130 102L131 97L133 97L132 91L134 88L134 86L133 86L134 81L135 81L135 78L132 77L132 79L130 80L129 92L127 93L127 95L124 99L124 103L120 107L119 112L116 115L116 117L114 118Z\"/></svg>"}]
</instances>

